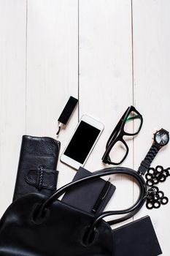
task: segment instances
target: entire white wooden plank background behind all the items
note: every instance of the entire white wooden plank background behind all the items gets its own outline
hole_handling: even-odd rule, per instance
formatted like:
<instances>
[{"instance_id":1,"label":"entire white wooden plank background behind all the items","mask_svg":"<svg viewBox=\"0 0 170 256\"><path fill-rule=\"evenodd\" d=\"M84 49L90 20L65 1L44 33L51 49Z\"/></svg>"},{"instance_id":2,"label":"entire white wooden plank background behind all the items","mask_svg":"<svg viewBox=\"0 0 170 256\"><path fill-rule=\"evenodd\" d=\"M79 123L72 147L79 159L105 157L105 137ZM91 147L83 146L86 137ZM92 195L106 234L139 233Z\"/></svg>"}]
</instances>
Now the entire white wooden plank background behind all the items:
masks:
<instances>
[{"instance_id":1,"label":"entire white wooden plank background behind all the items","mask_svg":"<svg viewBox=\"0 0 170 256\"><path fill-rule=\"evenodd\" d=\"M79 108L60 135L61 151L83 113L105 125L90 155L101 157L112 129L129 105L144 117L140 134L128 141L124 166L137 168L152 133L170 130L169 0L0 0L0 214L12 201L23 134L55 138L70 95ZM154 160L169 167L169 146ZM58 187L75 171L58 163ZM117 191L107 209L130 206L138 193L132 181L113 179ZM170 198L170 178L159 185ZM135 219L152 217L163 256L169 256L170 203L145 207Z\"/></svg>"}]
</instances>

